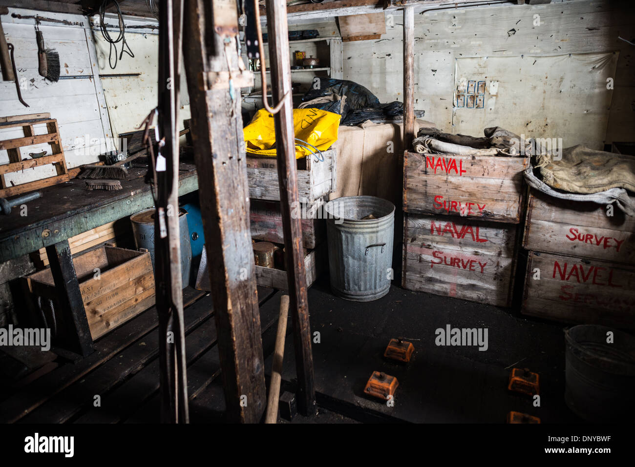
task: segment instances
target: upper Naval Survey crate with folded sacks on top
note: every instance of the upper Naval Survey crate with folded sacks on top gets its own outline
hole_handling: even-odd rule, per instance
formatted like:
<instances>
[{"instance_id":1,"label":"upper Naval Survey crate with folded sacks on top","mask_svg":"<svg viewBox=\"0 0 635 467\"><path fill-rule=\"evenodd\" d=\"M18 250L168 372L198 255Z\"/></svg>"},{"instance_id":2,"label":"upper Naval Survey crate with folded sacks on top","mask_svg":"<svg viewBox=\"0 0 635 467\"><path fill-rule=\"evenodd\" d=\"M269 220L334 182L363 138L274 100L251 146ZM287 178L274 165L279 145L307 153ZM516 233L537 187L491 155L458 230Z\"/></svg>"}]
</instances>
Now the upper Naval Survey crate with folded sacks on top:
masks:
<instances>
[{"instance_id":1,"label":"upper Naval Survey crate with folded sacks on top","mask_svg":"<svg viewBox=\"0 0 635 467\"><path fill-rule=\"evenodd\" d=\"M519 223L526 157L404 155L403 209Z\"/></svg>"}]
</instances>

